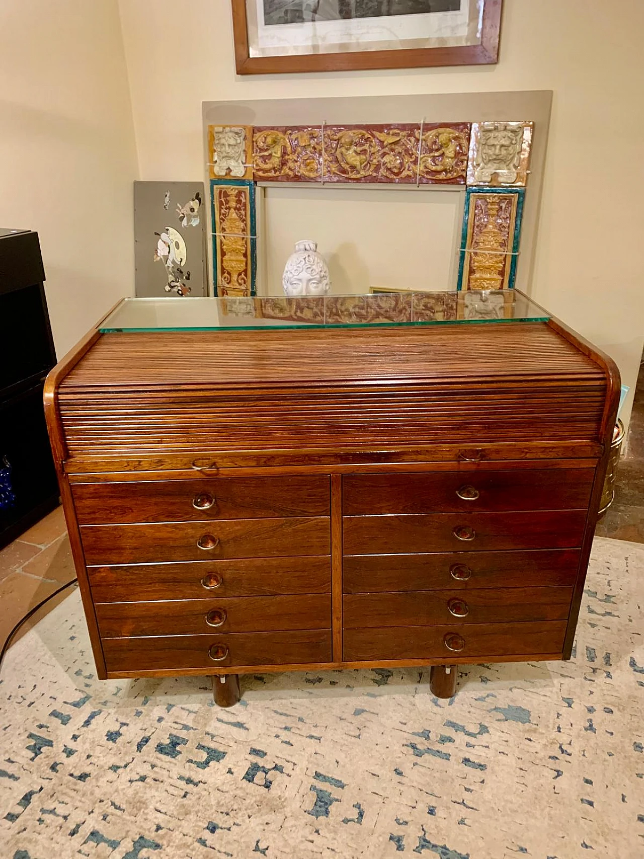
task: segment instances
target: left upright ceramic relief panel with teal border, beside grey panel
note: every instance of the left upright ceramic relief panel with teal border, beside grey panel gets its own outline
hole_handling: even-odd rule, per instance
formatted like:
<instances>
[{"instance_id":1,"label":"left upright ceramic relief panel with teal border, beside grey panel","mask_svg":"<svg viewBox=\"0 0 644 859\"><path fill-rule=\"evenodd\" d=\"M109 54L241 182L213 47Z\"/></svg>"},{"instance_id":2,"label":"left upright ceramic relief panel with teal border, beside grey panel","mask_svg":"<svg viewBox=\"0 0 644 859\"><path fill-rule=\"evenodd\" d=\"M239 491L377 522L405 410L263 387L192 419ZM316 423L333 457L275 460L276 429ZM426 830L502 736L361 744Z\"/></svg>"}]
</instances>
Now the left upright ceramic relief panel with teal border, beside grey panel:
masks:
<instances>
[{"instance_id":1,"label":"left upright ceramic relief panel with teal border, beside grey panel","mask_svg":"<svg viewBox=\"0 0 644 859\"><path fill-rule=\"evenodd\" d=\"M255 186L245 180L211 180L215 295L255 295L257 237Z\"/></svg>"}]
</instances>

